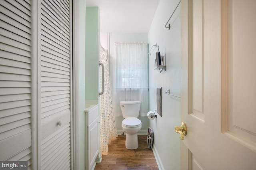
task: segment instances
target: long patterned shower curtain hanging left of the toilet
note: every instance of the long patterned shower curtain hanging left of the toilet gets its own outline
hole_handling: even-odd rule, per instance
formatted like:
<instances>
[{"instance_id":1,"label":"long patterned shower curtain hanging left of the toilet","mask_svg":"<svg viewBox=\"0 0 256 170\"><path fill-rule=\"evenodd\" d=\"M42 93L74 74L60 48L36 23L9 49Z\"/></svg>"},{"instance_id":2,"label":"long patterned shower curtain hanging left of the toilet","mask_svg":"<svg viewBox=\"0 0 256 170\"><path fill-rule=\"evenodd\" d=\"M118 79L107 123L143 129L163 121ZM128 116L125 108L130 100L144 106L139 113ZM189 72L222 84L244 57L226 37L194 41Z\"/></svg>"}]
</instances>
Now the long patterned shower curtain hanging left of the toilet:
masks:
<instances>
[{"instance_id":1,"label":"long patterned shower curtain hanging left of the toilet","mask_svg":"<svg viewBox=\"0 0 256 170\"><path fill-rule=\"evenodd\" d=\"M117 130L110 91L108 53L102 46L100 46L100 61L104 65L104 93L100 95L100 149L102 154L108 154L108 144L111 138L117 137ZM102 75L100 75L100 83L102 83Z\"/></svg>"}]
</instances>

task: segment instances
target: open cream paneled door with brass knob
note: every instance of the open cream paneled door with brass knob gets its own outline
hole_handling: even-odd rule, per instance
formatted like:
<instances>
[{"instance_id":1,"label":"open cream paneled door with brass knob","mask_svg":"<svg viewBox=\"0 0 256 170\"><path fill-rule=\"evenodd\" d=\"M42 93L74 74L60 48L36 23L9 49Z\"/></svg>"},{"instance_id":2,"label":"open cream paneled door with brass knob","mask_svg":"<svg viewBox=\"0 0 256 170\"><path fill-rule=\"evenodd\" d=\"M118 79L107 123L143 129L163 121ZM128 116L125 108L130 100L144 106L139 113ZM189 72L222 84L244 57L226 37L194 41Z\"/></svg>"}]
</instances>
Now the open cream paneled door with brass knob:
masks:
<instances>
[{"instance_id":1,"label":"open cream paneled door with brass knob","mask_svg":"<svg viewBox=\"0 0 256 170\"><path fill-rule=\"evenodd\" d=\"M255 169L256 1L182 0L181 8L181 169Z\"/></svg>"}]
</instances>

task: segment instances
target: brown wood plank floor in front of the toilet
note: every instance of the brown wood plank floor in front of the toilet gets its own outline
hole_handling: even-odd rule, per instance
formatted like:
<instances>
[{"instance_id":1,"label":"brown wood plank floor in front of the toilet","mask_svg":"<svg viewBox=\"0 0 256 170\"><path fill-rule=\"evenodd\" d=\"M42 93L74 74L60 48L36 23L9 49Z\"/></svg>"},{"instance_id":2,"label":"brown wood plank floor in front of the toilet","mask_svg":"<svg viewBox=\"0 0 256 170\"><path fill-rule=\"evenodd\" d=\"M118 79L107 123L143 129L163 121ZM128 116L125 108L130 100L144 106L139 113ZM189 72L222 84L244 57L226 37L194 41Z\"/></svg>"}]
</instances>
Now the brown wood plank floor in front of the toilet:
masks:
<instances>
[{"instance_id":1,"label":"brown wood plank floor in front of the toilet","mask_svg":"<svg viewBox=\"0 0 256 170\"><path fill-rule=\"evenodd\" d=\"M118 135L94 170L158 170L153 151L148 149L147 136L138 135L138 142L138 149L126 149L125 136Z\"/></svg>"}]
</instances>

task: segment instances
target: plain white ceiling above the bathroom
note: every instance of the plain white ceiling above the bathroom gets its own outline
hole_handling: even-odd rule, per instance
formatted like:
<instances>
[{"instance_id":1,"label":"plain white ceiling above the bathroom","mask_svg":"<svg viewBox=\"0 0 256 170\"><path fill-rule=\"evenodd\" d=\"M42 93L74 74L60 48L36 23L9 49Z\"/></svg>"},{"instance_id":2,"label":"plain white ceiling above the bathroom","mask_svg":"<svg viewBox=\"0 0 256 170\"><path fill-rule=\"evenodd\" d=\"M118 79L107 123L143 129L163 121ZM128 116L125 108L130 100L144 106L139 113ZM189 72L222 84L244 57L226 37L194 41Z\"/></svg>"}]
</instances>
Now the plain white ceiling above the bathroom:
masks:
<instances>
[{"instance_id":1,"label":"plain white ceiling above the bathroom","mask_svg":"<svg viewBox=\"0 0 256 170\"><path fill-rule=\"evenodd\" d=\"M101 33L148 33L159 0L86 0L100 9Z\"/></svg>"}]
</instances>

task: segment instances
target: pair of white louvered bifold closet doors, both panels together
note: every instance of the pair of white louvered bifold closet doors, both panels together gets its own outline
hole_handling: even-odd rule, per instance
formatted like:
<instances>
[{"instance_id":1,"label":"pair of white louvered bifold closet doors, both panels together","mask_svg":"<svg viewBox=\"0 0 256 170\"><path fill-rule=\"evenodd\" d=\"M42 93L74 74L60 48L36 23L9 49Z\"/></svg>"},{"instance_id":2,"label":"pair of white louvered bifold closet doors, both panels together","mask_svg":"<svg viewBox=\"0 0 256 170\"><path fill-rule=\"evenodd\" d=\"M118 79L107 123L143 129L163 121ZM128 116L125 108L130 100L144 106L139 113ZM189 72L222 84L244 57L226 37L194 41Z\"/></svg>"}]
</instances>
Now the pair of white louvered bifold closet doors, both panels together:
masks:
<instances>
[{"instance_id":1,"label":"pair of white louvered bifold closet doors, both panels together","mask_svg":"<svg viewBox=\"0 0 256 170\"><path fill-rule=\"evenodd\" d=\"M72 169L72 1L0 1L0 160Z\"/></svg>"}]
</instances>

